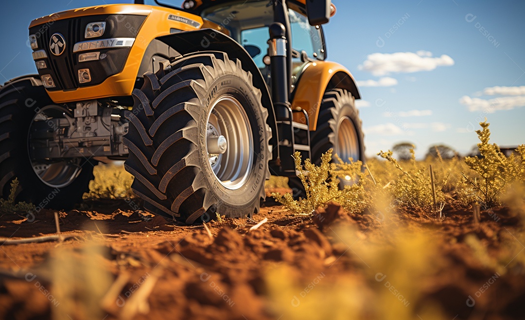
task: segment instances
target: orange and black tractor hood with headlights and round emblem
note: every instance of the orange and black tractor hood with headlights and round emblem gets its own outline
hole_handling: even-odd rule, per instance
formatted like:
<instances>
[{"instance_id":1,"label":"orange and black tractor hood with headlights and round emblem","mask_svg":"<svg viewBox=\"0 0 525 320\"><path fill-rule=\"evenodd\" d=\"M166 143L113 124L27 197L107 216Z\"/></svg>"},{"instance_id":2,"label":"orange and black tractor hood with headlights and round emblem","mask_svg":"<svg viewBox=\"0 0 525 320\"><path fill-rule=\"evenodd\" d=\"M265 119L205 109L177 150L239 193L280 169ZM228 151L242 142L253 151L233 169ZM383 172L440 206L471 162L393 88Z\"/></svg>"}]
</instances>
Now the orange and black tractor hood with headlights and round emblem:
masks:
<instances>
[{"instance_id":1,"label":"orange and black tractor hood with headlights and round emblem","mask_svg":"<svg viewBox=\"0 0 525 320\"><path fill-rule=\"evenodd\" d=\"M208 25L201 17L174 8L93 6L33 20L29 43L53 101L130 96L153 39Z\"/></svg>"}]
</instances>

